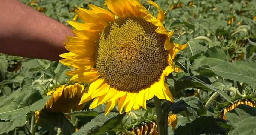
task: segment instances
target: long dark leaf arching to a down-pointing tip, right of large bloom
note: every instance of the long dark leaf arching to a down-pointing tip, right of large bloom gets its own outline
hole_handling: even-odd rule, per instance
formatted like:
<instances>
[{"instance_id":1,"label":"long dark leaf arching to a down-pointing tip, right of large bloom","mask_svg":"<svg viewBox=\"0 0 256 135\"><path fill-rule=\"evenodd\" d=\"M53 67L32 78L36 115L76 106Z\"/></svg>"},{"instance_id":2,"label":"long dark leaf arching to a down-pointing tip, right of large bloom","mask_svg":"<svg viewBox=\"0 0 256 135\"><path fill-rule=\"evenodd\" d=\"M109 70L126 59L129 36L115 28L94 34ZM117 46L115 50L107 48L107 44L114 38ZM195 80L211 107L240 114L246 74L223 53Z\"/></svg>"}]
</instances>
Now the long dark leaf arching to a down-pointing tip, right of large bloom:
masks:
<instances>
[{"instance_id":1,"label":"long dark leaf arching to a down-pointing tip, right of large bloom","mask_svg":"<svg viewBox=\"0 0 256 135\"><path fill-rule=\"evenodd\" d=\"M190 77L190 76L183 76L180 79L175 80L175 83L174 83L175 91L173 95L176 95L181 90L184 90L186 88L197 88L200 90L215 91L215 92L218 92L221 96L223 96L224 99L226 99L228 102L233 103L230 100L229 96L223 91L221 91L220 89L218 89L217 87L206 84L203 81L197 79L196 77Z\"/></svg>"}]
</instances>

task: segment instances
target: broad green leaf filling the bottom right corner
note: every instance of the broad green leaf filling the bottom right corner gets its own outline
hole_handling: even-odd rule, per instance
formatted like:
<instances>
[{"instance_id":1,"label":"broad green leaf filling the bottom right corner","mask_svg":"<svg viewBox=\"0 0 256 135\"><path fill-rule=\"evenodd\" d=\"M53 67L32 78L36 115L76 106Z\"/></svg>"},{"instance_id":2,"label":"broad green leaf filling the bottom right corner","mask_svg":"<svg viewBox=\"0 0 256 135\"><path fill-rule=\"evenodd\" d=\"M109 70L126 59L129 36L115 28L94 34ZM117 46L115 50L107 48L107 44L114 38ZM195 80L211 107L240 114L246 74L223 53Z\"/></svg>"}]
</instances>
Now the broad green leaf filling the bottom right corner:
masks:
<instances>
[{"instance_id":1,"label":"broad green leaf filling the bottom right corner","mask_svg":"<svg viewBox=\"0 0 256 135\"><path fill-rule=\"evenodd\" d=\"M247 105L238 105L225 115L234 127L229 135L252 135L256 133L256 108Z\"/></svg>"}]
</instances>

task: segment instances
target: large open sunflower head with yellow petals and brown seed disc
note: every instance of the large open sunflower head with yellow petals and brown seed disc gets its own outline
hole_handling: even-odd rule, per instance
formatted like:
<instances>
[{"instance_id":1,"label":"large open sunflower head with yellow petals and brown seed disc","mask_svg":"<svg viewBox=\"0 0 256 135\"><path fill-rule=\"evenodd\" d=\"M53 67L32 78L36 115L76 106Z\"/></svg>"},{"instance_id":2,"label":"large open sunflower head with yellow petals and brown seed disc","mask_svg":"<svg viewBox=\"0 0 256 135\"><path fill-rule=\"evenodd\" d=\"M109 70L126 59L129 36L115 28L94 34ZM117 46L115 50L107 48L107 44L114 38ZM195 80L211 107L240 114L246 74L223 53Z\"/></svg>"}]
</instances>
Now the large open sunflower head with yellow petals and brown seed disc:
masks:
<instances>
[{"instance_id":1,"label":"large open sunflower head with yellow petals and brown seed disc","mask_svg":"<svg viewBox=\"0 0 256 135\"><path fill-rule=\"evenodd\" d=\"M165 76L174 71L175 53L186 47L169 42L160 7L157 17L137 0L106 0L108 10L88 4L91 10L78 8L84 22L68 21L76 37L64 42L69 53L60 62L74 67L66 74L71 81L88 83L79 104L94 99L90 109L106 104L105 114L116 104L122 113L146 108L146 101L157 96L173 101Z\"/></svg>"}]
</instances>

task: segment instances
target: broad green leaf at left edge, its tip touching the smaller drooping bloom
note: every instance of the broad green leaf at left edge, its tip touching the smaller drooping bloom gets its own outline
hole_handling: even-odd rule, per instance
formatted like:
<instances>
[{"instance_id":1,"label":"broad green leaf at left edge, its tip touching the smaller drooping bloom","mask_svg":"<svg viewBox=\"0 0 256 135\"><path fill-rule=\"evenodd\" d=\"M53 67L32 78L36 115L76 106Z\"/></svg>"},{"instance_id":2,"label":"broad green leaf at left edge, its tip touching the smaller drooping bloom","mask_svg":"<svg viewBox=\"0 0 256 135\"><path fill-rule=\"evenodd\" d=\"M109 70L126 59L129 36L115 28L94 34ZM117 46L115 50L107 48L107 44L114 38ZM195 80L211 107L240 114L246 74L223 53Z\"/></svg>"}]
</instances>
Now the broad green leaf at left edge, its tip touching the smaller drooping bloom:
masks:
<instances>
[{"instance_id":1,"label":"broad green leaf at left edge, its tip touching the smaller drooping bloom","mask_svg":"<svg viewBox=\"0 0 256 135\"><path fill-rule=\"evenodd\" d=\"M0 119L14 121L20 116L26 116L31 111L42 109L49 98L50 96L47 96L42 99L38 90L16 90L7 98L2 99Z\"/></svg>"}]
</instances>

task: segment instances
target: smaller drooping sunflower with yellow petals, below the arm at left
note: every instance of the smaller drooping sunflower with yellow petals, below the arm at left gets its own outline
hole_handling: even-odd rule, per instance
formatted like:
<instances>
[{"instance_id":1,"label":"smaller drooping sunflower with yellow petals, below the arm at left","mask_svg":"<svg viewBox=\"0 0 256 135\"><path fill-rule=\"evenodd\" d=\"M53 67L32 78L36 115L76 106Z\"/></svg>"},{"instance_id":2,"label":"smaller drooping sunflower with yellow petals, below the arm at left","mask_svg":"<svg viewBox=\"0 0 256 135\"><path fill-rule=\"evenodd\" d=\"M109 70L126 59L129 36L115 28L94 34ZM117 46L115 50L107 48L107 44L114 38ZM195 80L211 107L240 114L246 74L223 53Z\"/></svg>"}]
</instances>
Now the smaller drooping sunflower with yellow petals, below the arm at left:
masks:
<instances>
[{"instance_id":1,"label":"smaller drooping sunflower with yellow petals, below the arm at left","mask_svg":"<svg viewBox=\"0 0 256 135\"><path fill-rule=\"evenodd\" d=\"M55 90L47 93L53 95L45 104L44 109L49 112L64 112L69 113L71 109L81 110L84 104L78 105L82 94L84 93L84 86L78 83L74 85L62 85Z\"/></svg>"}]
</instances>

